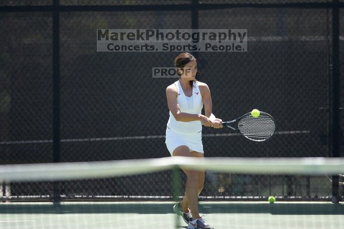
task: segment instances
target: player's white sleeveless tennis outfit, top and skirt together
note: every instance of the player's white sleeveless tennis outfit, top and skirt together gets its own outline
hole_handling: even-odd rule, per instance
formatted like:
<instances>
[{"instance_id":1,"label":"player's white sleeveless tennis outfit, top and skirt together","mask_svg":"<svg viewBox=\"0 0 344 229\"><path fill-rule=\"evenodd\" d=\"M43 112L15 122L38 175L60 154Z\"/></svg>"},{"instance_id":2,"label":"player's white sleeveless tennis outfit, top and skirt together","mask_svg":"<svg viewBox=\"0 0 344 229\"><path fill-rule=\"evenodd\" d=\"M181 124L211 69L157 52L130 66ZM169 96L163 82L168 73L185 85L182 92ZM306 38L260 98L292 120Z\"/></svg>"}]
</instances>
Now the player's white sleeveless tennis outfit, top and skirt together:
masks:
<instances>
[{"instance_id":1,"label":"player's white sleeveless tennis outfit, top and skirt together","mask_svg":"<svg viewBox=\"0 0 344 229\"><path fill-rule=\"evenodd\" d=\"M201 114L203 108L202 96L197 82L194 82L192 96L185 96L179 80L174 82L177 87L177 102L180 112L189 114ZM173 150L181 145L189 147L190 151L203 153L202 125L201 121L181 122L175 120L170 111L170 118L166 128L166 146L171 155Z\"/></svg>"}]
</instances>

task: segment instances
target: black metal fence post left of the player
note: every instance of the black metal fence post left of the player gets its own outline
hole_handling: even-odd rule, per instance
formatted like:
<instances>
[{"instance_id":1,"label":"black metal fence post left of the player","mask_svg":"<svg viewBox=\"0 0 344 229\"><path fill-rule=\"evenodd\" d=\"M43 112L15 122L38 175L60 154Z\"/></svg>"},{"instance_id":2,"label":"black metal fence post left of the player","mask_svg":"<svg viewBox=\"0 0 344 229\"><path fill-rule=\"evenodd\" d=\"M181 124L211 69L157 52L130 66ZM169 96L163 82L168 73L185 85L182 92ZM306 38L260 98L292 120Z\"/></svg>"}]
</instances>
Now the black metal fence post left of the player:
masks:
<instances>
[{"instance_id":1,"label":"black metal fence post left of the player","mask_svg":"<svg viewBox=\"0 0 344 229\"><path fill-rule=\"evenodd\" d=\"M60 162L59 0L53 0L53 162ZM60 201L60 183L54 181L53 201Z\"/></svg>"}]
</instances>

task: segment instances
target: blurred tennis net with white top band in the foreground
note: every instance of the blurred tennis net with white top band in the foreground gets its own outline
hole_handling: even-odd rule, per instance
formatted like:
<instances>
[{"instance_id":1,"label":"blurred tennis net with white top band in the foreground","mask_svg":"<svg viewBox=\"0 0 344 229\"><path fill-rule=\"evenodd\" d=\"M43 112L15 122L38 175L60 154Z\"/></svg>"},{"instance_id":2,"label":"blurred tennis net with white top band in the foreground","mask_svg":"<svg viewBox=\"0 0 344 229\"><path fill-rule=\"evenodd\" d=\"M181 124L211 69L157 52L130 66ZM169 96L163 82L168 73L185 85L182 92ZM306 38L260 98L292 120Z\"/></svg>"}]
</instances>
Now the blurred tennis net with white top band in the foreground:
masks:
<instances>
[{"instance_id":1,"label":"blurred tennis net with white top band in the foreground","mask_svg":"<svg viewBox=\"0 0 344 229\"><path fill-rule=\"evenodd\" d=\"M172 210L173 205L182 200L185 191L183 181L186 178L180 166L206 171L200 213L206 214L203 218L216 229L338 229L344 225L344 205L330 201L333 177L340 178L336 198L343 199L341 174L344 173L344 158L167 157L1 165L0 228L187 228ZM164 177L163 181L154 180L158 173L159 178ZM290 191L287 182L281 181L287 181L289 176L299 178L299 183L293 187L295 190L301 185L310 186L309 201L287 195ZM236 180L238 177L240 182ZM102 186L102 182L109 179L114 181L112 189ZM137 185L127 186L127 181L133 179ZM86 180L88 182L84 182ZM327 183L327 190L314 190L313 183L320 181ZM157 185L149 190L150 194L140 188L144 182L156 182ZM40 195L45 193L46 200L50 201L27 201L41 200L35 199L33 186L45 187ZM18 187L27 190L18 190ZM258 188L264 190L258 191ZM162 189L166 190L162 192ZM210 192L212 195L204 195ZM241 192L242 197L233 197L235 192ZM321 192L328 196L316 197ZM21 195L27 198L23 199ZM269 203L269 196L274 196L276 202Z\"/></svg>"}]
</instances>

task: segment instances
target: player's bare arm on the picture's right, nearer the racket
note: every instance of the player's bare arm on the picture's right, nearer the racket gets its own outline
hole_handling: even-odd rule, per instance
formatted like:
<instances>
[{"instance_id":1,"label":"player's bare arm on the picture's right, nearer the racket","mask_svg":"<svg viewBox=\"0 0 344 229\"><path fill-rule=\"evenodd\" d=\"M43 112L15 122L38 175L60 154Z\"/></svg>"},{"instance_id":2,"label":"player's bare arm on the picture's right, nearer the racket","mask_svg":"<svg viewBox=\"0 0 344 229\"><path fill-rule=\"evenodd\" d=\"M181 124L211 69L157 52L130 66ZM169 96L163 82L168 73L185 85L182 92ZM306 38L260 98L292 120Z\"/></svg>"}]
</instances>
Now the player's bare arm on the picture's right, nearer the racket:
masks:
<instances>
[{"instance_id":1,"label":"player's bare arm on the picture's right, nearer the racket","mask_svg":"<svg viewBox=\"0 0 344 229\"><path fill-rule=\"evenodd\" d=\"M210 118L210 120L212 120L214 128L221 128L222 119L215 117L215 115L212 112L213 103L211 101L210 89L208 85L201 82L198 83L202 95L202 101L204 104L204 115Z\"/></svg>"}]
</instances>

